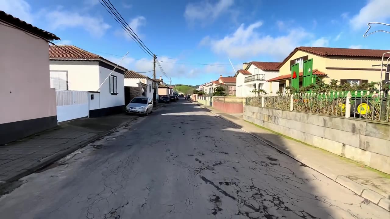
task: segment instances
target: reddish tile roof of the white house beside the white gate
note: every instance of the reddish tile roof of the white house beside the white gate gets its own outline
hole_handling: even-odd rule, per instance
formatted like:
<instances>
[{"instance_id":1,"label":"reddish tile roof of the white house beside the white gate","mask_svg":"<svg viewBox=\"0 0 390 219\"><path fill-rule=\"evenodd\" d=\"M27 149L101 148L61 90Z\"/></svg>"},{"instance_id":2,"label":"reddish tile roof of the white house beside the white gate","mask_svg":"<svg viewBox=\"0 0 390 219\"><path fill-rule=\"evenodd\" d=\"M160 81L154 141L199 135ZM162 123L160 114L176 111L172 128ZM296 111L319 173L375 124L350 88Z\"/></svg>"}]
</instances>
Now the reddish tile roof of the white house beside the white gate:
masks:
<instances>
[{"instance_id":1,"label":"reddish tile roof of the white house beside the white gate","mask_svg":"<svg viewBox=\"0 0 390 219\"><path fill-rule=\"evenodd\" d=\"M103 60L105 62L111 63L114 66L117 65L114 62L96 55L95 53L78 48L77 46L49 46L49 58L52 60ZM126 69L121 65L118 65L118 67Z\"/></svg>"}]
</instances>

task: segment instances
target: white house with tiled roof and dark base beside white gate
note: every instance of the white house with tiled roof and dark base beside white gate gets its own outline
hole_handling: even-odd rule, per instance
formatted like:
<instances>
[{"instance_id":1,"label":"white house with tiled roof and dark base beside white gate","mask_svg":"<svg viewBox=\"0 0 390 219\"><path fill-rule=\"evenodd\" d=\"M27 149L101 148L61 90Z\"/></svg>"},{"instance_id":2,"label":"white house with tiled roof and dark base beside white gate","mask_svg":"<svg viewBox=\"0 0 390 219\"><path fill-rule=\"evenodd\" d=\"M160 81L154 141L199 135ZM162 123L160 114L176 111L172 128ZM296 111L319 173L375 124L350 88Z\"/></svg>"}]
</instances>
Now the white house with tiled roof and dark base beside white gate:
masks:
<instances>
[{"instance_id":1,"label":"white house with tiled roof and dark base beside white gate","mask_svg":"<svg viewBox=\"0 0 390 219\"><path fill-rule=\"evenodd\" d=\"M93 100L89 117L124 110L126 68L76 46L50 46L49 55L51 87L57 90L89 91L91 94L88 94L88 101Z\"/></svg>"}]
</instances>

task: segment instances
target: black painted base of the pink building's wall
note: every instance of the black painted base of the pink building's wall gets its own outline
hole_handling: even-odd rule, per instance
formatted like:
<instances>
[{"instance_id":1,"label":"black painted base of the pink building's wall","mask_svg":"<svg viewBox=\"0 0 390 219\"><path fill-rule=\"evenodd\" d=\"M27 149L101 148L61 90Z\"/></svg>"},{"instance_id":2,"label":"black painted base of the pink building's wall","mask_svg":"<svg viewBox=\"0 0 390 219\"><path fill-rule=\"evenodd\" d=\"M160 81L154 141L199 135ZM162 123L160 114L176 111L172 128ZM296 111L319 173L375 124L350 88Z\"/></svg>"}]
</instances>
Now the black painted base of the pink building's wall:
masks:
<instances>
[{"instance_id":1,"label":"black painted base of the pink building's wall","mask_svg":"<svg viewBox=\"0 0 390 219\"><path fill-rule=\"evenodd\" d=\"M0 145L57 126L57 116L0 124Z\"/></svg>"}]
</instances>

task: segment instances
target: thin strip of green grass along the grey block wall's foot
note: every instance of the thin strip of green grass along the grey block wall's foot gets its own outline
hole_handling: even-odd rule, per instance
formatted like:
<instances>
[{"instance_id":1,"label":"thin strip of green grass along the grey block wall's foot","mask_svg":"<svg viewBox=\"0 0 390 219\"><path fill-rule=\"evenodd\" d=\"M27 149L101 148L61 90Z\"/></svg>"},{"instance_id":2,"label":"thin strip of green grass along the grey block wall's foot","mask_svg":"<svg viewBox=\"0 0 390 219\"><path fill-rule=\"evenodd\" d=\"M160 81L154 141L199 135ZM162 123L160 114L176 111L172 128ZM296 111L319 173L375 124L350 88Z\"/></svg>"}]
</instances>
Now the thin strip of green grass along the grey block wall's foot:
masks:
<instances>
[{"instance_id":1,"label":"thin strip of green grass along the grey block wall's foot","mask_svg":"<svg viewBox=\"0 0 390 219\"><path fill-rule=\"evenodd\" d=\"M362 163L360 163L360 162L356 162L356 161L353 161L353 160L348 159L348 158L346 158L346 157L342 157L342 156L340 156L340 155L333 154L332 152L329 152L329 151L327 151L327 150L324 150L324 149L322 149L322 148L319 148L319 147L316 147L316 146L313 146L313 145L309 145L308 143L305 143L305 142L300 141L300 140L295 139L295 138L291 138L291 137L286 136L286 135L284 135L284 134L282 134L282 133L275 132L275 131L273 131L273 130L271 130L271 129L267 129L266 127L262 127L261 125L257 125L257 124L255 124L255 123L253 123L253 122L249 122L249 121L247 121L247 120L244 120L244 121L245 121L245 122L248 122L248 123L250 123L250 124L252 124L252 125L255 125L256 127L259 127L259 128L261 128L261 129L264 129L264 130L266 130L266 131L272 132L273 134L276 134L276 135L278 135L278 136L282 136L282 137L284 137L284 138L287 138L287 139L289 139L289 140L296 141L296 142L301 143L301 144L303 144L303 145L306 145L306 146L309 146L309 147L312 147L312 148L319 149L319 150L325 152L326 154L335 155L335 156L339 157L339 159L341 159L341 160L343 160L343 161L345 161L345 162L353 163L353 164L356 164L357 166L361 166L361 167L363 167L363 168L366 168L367 170L374 171L375 173L378 173L378 175L380 175L381 177L390 178L390 175L389 175L389 174L383 173L382 171L379 171L379 170L375 170L374 168L371 168L371 167L369 167L369 166L367 166L367 165L365 165L365 164L362 164Z\"/></svg>"}]
</instances>

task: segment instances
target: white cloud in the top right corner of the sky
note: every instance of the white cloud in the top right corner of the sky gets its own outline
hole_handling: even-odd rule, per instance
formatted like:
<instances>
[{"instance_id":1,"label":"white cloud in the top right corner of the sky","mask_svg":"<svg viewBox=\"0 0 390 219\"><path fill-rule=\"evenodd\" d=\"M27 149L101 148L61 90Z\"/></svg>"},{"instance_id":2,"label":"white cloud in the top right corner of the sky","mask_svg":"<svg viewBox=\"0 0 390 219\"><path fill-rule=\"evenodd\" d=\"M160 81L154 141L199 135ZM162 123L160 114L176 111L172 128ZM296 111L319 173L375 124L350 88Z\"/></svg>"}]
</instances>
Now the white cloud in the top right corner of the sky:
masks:
<instances>
[{"instance_id":1,"label":"white cloud in the top right corner of the sky","mask_svg":"<svg viewBox=\"0 0 390 219\"><path fill-rule=\"evenodd\" d=\"M368 4L360 9L359 13L349 20L349 25L354 30L359 30L369 22L384 23L390 18L388 0L369 0Z\"/></svg>"}]
</instances>

